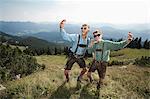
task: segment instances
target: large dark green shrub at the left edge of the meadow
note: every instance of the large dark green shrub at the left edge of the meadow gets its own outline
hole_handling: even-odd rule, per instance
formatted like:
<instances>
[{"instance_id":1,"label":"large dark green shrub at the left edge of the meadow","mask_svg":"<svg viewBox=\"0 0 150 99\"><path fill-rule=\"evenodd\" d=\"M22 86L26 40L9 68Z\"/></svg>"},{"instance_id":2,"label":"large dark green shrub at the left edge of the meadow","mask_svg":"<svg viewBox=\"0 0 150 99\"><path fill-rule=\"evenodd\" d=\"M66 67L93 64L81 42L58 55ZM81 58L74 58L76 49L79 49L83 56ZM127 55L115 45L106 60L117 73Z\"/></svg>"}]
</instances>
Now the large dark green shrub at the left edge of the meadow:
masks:
<instances>
[{"instance_id":1,"label":"large dark green shrub at the left edge of the meadow","mask_svg":"<svg viewBox=\"0 0 150 99\"><path fill-rule=\"evenodd\" d=\"M12 80L16 75L26 76L36 70L44 69L35 58L25 55L18 47L0 45L0 82Z\"/></svg>"}]
</instances>

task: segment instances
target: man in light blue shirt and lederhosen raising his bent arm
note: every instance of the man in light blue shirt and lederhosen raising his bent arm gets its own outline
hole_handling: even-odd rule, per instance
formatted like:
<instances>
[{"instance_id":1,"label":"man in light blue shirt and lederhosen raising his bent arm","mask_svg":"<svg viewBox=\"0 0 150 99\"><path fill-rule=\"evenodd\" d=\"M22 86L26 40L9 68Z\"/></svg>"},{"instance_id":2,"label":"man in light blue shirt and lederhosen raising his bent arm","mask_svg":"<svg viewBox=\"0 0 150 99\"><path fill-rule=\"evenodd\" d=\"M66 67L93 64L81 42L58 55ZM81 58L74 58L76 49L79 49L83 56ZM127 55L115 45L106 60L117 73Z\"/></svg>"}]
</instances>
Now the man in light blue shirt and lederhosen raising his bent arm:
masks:
<instances>
[{"instance_id":1,"label":"man in light blue shirt and lederhosen raising his bent arm","mask_svg":"<svg viewBox=\"0 0 150 99\"><path fill-rule=\"evenodd\" d=\"M82 71L77 79L77 81L81 81L82 76L87 71L85 60L83 59L83 57L90 43L90 38L88 38L88 35L87 35L90 27L87 24L83 24L81 27L81 32L82 32L81 34L69 34L69 33L66 33L64 29L65 22L66 20L63 20L60 23L61 36L63 37L64 40L71 42L72 46L70 48L69 57L64 68L65 69L64 74L66 76L66 81L68 82L69 72L73 64L76 62L78 63L80 68L82 68Z\"/></svg>"}]
</instances>

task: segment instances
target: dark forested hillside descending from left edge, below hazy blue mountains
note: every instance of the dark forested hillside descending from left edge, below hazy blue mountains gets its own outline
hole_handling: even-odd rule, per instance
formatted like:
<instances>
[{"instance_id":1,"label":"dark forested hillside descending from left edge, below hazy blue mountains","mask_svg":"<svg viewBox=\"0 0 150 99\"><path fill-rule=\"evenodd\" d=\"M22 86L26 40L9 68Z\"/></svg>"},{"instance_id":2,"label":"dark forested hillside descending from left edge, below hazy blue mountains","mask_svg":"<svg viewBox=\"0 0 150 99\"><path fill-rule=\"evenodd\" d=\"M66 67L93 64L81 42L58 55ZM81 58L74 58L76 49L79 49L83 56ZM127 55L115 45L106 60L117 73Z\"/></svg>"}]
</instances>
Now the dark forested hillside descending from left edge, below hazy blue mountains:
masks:
<instances>
[{"instance_id":1,"label":"dark forested hillside descending from left edge, below hazy blue mountains","mask_svg":"<svg viewBox=\"0 0 150 99\"><path fill-rule=\"evenodd\" d=\"M0 31L0 37L3 37L5 42L8 44L13 45L21 45L21 46L28 46L30 48L47 48L47 47L58 47L58 46L64 46L65 44L62 43L55 43L53 40L50 40L51 42L48 42L46 40L32 37L32 36L13 36L4 32ZM3 38L0 38L3 39Z\"/></svg>"}]
</instances>

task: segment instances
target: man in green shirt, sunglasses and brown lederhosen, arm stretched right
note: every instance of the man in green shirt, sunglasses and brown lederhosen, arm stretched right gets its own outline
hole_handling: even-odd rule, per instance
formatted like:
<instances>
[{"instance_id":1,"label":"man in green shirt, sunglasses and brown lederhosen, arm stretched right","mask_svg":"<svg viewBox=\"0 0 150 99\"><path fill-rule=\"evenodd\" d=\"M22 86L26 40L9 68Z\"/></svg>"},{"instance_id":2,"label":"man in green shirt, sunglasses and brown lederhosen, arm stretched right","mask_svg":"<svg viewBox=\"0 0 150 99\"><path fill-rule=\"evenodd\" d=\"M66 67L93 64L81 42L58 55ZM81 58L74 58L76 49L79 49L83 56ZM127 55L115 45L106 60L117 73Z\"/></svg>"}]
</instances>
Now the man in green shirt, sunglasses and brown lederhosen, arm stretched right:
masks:
<instances>
[{"instance_id":1,"label":"man in green shirt, sunglasses and brown lederhosen, arm stretched right","mask_svg":"<svg viewBox=\"0 0 150 99\"><path fill-rule=\"evenodd\" d=\"M124 48L127 44L132 41L132 34L131 32L128 33L128 40L124 40L121 42L113 42L108 40L102 39L102 32L96 30L93 32L94 40L91 41L91 50L93 52L93 63L92 66L89 68L87 73L90 82L93 81L91 77L91 72L95 70L98 71L99 75L99 82L97 85L97 89L100 88L100 84L103 83L103 79L105 78L106 73L106 66L108 61L110 60L110 50L118 50Z\"/></svg>"}]
</instances>

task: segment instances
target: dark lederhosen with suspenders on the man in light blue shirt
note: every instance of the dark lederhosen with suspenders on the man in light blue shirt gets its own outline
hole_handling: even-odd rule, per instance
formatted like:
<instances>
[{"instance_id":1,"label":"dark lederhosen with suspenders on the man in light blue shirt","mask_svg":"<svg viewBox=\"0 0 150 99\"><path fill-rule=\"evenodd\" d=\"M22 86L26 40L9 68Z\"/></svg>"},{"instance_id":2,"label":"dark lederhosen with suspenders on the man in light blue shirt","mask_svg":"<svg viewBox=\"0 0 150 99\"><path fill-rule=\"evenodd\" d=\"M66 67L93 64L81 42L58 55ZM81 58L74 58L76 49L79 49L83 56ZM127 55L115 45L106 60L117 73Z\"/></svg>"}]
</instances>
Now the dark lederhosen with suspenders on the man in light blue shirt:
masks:
<instances>
[{"instance_id":1,"label":"dark lederhosen with suspenders on the man in light blue shirt","mask_svg":"<svg viewBox=\"0 0 150 99\"><path fill-rule=\"evenodd\" d=\"M78 47L85 48L88 46L88 39L87 39L87 45L79 44L79 42L80 42L80 35L78 36L78 42L77 42L77 47L76 47L75 51L74 52L72 52L71 50L69 51L69 57L68 57L66 65L65 65L65 70L71 70L71 68L75 62L78 63L80 68L86 67L85 60L83 59L85 53L83 55L77 55L76 52L78 50Z\"/></svg>"}]
</instances>

